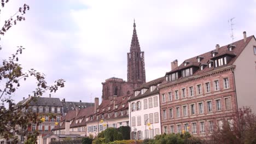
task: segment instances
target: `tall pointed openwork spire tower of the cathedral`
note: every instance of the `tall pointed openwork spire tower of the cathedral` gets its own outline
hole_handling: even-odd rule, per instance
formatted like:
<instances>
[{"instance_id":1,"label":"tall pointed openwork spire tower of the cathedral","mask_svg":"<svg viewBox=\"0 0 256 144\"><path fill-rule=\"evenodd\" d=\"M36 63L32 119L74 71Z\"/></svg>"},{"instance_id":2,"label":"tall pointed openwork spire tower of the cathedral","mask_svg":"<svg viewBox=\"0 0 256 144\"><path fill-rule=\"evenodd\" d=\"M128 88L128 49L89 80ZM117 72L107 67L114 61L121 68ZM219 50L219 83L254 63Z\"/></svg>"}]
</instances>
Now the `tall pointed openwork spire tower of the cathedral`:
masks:
<instances>
[{"instance_id":1,"label":"tall pointed openwork spire tower of the cathedral","mask_svg":"<svg viewBox=\"0 0 256 144\"><path fill-rule=\"evenodd\" d=\"M127 82L141 84L146 82L144 52L139 47L135 21L130 52L127 53Z\"/></svg>"}]
</instances>

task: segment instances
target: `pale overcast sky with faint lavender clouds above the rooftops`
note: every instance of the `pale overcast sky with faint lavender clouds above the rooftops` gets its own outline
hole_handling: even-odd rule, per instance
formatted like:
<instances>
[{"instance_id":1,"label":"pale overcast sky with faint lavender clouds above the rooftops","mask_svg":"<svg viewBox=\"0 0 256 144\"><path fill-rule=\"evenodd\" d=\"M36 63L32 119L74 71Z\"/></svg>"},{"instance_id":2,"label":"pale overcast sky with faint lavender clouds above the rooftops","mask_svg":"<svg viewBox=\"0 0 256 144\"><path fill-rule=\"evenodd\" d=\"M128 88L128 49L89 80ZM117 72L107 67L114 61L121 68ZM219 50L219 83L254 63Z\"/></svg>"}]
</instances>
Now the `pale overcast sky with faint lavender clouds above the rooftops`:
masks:
<instances>
[{"instance_id":1,"label":"pale overcast sky with faint lavender clouds above the rooftops","mask_svg":"<svg viewBox=\"0 0 256 144\"><path fill-rule=\"evenodd\" d=\"M164 76L171 62L211 51L232 42L228 20L234 19L235 41L256 34L256 0L234 1L18 1L1 10L1 25L24 3L30 5L26 21L1 37L0 59L7 59L22 45L24 71L44 73L48 83L65 79L53 97L92 102L101 98L109 77L127 80L133 19L145 52L146 80ZM21 83L13 95L18 102L35 88L35 81ZM48 94L44 95L48 97Z\"/></svg>"}]
</instances>

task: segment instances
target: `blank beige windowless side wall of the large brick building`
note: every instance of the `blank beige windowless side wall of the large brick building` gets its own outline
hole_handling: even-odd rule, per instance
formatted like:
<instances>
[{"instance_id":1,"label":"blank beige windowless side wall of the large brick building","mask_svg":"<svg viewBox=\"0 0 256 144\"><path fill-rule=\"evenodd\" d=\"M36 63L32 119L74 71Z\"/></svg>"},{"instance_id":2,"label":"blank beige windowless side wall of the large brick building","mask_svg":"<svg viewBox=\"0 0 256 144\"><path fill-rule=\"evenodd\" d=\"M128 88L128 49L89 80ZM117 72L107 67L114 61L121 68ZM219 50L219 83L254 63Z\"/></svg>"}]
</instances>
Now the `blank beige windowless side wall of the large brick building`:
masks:
<instances>
[{"instance_id":1,"label":"blank beige windowless side wall of the large brick building","mask_svg":"<svg viewBox=\"0 0 256 144\"><path fill-rule=\"evenodd\" d=\"M234 74L238 108L251 106L256 113L256 55L254 55L253 46L256 46L254 38L234 62L236 65Z\"/></svg>"}]
</instances>

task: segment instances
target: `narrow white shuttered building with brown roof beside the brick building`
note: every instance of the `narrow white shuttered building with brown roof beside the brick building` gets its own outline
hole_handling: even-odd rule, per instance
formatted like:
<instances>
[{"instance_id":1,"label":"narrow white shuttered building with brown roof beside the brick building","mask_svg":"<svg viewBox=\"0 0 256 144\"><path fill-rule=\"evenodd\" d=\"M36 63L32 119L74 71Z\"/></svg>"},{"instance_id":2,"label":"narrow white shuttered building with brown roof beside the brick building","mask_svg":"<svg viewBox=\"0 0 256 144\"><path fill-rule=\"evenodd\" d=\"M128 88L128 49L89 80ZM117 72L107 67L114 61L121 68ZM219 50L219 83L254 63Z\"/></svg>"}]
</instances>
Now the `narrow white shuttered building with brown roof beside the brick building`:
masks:
<instances>
[{"instance_id":1,"label":"narrow white shuttered building with brown roof beside the brick building","mask_svg":"<svg viewBox=\"0 0 256 144\"><path fill-rule=\"evenodd\" d=\"M149 81L135 89L129 99L131 139L154 139L161 134L159 84L164 77Z\"/></svg>"}]
</instances>

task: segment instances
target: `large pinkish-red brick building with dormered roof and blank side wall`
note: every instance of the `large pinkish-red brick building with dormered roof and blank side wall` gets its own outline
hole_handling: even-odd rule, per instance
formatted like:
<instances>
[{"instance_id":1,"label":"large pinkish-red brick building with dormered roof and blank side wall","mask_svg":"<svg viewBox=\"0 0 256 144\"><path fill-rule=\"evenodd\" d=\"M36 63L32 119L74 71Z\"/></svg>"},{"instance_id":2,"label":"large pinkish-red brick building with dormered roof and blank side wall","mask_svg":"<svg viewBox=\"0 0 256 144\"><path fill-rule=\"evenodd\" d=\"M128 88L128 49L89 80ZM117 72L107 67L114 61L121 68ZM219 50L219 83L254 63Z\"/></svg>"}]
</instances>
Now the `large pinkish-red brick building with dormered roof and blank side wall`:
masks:
<instances>
[{"instance_id":1,"label":"large pinkish-red brick building with dormered roof and blank side wall","mask_svg":"<svg viewBox=\"0 0 256 144\"><path fill-rule=\"evenodd\" d=\"M208 136L238 107L256 112L256 41L246 36L232 44L171 63L159 86L162 133L189 131Z\"/></svg>"}]
</instances>

